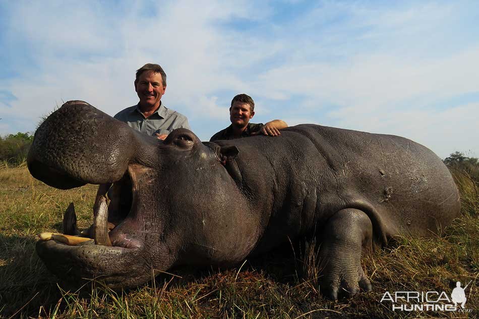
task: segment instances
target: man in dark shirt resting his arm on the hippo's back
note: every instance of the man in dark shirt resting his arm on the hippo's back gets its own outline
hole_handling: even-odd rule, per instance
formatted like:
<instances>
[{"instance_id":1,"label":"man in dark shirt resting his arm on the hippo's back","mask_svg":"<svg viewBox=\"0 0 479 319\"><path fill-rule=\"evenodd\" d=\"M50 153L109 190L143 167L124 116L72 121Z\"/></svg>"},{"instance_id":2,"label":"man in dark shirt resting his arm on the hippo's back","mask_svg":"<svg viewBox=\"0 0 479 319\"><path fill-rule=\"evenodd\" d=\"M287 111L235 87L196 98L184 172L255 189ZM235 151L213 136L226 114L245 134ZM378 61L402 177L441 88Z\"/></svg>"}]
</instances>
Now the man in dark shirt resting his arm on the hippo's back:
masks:
<instances>
[{"instance_id":1,"label":"man in dark shirt resting his arm on the hippo's back","mask_svg":"<svg viewBox=\"0 0 479 319\"><path fill-rule=\"evenodd\" d=\"M264 134L268 136L281 135L279 130L288 127L286 122L280 119L274 119L266 124L250 123L250 119L255 115L255 102L251 96L238 94L231 100L229 108L229 120L231 125L226 129L213 135L210 142L216 140L232 140Z\"/></svg>"}]
</instances>

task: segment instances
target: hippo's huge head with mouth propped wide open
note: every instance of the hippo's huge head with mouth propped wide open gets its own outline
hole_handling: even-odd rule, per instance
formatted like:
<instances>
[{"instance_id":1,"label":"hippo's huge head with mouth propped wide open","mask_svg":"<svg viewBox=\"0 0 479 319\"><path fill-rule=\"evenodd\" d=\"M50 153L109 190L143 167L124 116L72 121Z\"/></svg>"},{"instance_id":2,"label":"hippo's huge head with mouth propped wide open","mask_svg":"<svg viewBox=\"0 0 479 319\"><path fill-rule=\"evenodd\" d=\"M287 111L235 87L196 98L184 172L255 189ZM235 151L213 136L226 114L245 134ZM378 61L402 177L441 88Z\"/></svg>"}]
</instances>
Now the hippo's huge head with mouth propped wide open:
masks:
<instances>
[{"instance_id":1,"label":"hippo's huge head with mouth propped wide open","mask_svg":"<svg viewBox=\"0 0 479 319\"><path fill-rule=\"evenodd\" d=\"M67 102L38 127L28 168L56 188L100 185L87 232L94 241L39 241L37 253L65 281L99 278L111 288L137 286L176 265L241 261L254 246L241 238L255 229L224 165L237 153L186 129L160 141L86 102Z\"/></svg>"}]
</instances>

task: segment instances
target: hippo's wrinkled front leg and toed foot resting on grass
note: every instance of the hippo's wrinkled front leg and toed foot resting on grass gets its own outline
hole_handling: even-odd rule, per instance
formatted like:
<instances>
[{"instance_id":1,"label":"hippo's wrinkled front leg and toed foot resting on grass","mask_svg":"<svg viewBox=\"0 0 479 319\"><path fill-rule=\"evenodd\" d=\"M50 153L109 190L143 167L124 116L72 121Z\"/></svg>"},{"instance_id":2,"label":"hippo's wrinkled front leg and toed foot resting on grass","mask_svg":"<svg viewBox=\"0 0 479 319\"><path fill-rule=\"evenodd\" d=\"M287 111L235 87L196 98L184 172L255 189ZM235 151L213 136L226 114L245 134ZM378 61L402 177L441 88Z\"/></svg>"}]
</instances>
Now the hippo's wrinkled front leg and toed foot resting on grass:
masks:
<instances>
[{"instance_id":1,"label":"hippo's wrinkled front leg and toed foot resting on grass","mask_svg":"<svg viewBox=\"0 0 479 319\"><path fill-rule=\"evenodd\" d=\"M371 220L357 209L340 210L328 220L320 248L323 295L336 300L340 287L350 296L360 287L372 289L361 266L362 251L372 248L372 234Z\"/></svg>"}]
</instances>

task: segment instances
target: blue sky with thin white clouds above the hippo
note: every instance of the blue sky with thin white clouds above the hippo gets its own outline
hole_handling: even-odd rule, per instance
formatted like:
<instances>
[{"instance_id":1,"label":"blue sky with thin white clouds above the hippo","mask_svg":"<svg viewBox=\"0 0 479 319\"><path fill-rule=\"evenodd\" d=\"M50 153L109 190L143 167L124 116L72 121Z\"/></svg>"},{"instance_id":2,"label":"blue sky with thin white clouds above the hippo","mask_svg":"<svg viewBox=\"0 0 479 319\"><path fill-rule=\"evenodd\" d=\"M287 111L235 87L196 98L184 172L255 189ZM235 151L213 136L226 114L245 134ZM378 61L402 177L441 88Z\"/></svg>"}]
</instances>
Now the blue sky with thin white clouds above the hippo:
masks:
<instances>
[{"instance_id":1,"label":"blue sky with thin white clouds above the hippo","mask_svg":"<svg viewBox=\"0 0 479 319\"><path fill-rule=\"evenodd\" d=\"M394 134L479 156L479 2L0 0L0 135L68 100L138 102L159 63L163 103L202 140L238 93L280 118Z\"/></svg>"}]
</instances>

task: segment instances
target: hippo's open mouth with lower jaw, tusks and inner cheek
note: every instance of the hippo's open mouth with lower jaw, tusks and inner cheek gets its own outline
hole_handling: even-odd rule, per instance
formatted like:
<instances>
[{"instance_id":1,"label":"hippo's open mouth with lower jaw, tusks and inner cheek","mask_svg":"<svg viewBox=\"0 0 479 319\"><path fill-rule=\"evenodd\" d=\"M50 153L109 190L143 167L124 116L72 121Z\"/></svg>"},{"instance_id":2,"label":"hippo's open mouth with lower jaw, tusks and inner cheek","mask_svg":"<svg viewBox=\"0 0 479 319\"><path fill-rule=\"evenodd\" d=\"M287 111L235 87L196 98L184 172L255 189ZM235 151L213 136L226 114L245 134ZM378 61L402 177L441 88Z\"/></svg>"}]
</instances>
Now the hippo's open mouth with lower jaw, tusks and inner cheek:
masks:
<instances>
[{"instance_id":1,"label":"hippo's open mouth with lower jaw, tusks and inner cheek","mask_svg":"<svg viewBox=\"0 0 479 319\"><path fill-rule=\"evenodd\" d=\"M63 234L40 234L36 249L52 273L73 285L100 278L110 288L134 287L149 279L151 261L143 256L144 233L132 222L138 204L137 173L142 169L129 165L122 179L100 184L89 228L77 228L70 204L64 214Z\"/></svg>"}]
</instances>

